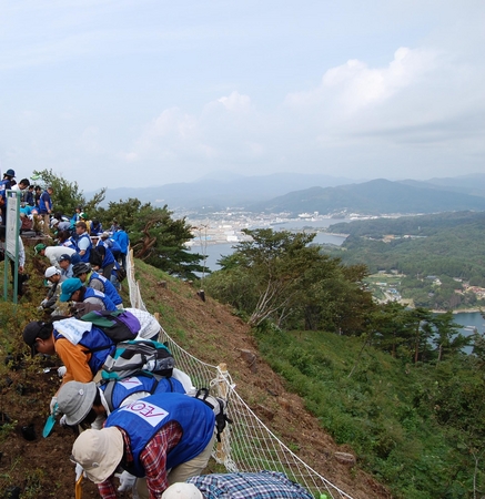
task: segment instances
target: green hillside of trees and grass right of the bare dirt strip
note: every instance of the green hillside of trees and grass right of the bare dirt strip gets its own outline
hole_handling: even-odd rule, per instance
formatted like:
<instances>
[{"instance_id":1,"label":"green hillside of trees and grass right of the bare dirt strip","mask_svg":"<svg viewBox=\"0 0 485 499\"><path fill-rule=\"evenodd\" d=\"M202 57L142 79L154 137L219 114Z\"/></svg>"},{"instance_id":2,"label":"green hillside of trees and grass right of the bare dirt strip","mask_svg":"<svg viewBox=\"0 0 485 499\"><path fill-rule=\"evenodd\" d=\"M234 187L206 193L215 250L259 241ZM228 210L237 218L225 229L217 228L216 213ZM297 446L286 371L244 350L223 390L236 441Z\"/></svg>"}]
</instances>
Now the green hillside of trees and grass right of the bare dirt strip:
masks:
<instances>
[{"instance_id":1,"label":"green hillside of trees and grass right of the bare dirt strip","mask_svg":"<svg viewBox=\"0 0 485 499\"><path fill-rule=\"evenodd\" d=\"M323 427L396 498L481 497L485 338L461 335L451 312L376 304L365 266L322 255L309 234L245 233L205 288L253 325Z\"/></svg>"}]
</instances>

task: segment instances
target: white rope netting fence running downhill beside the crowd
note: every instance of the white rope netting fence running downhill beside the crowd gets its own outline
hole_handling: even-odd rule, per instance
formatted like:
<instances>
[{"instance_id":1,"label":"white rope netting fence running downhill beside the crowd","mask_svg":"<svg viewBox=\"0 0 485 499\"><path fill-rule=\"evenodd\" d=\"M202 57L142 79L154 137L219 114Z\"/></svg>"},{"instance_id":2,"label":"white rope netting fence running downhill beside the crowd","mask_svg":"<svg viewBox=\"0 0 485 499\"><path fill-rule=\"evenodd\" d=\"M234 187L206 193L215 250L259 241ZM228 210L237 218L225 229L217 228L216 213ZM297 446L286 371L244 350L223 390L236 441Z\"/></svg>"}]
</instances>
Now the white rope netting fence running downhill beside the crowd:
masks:
<instances>
[{"instance_id":1,"label":"white rope netting fence running downhill beside the crowd","mask_svg":"<svg viewBox=\"0 0 485 499\"><path fill-rule=\"evenodd\" d=\"M131 252L127 257L127 281L130 287L131 306L146 310L134 279L134 264ZM315 497L352 497L331 483L317 471L303 462L290 450L250 409L238 395L225 365L212 366L199 360L178 345L163 329L159 340L165 343L175 358L179 369L186 373L193 386L210 388L211 394L228 403L228 415L232 420L221 435L213 452L216 462L230 472L257 472L263 469L284 472L291 480L299 482Z\"/></svg>"}]
</instances>

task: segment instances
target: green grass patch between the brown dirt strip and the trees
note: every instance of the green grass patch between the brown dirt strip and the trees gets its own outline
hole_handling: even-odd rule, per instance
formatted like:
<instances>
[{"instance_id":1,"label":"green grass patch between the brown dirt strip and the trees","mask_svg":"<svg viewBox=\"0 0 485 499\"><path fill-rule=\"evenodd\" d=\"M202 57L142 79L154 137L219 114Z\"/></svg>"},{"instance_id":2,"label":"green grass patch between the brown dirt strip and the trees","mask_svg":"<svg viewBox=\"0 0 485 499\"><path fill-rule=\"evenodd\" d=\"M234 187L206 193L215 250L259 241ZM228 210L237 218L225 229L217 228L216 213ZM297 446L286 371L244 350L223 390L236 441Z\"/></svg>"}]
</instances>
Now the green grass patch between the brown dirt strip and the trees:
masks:
<instances>
[{"instance_id":1,"label":"green grass patch between the brown dirt strip and the trees","mask_svg":"<svg viewBox=\"0 0 485 499\"><path fill-rule=\"evenodd\" d=\"M472 459L457 451L452 429L437 425L427 408L430 387L441 371L452 377L453 368L410 369L370 347L360 355L362 339L332 333L266 328L256 339L263 357L336 442L351 445L395 497L469 497L463 491L471 490ZM417 398L420 393L427 398ZM461 477L453 481L461 491L453 493L446 485L452 473ZM468 488L457 486L462 480Z\"/></svg>"}]
</instances>

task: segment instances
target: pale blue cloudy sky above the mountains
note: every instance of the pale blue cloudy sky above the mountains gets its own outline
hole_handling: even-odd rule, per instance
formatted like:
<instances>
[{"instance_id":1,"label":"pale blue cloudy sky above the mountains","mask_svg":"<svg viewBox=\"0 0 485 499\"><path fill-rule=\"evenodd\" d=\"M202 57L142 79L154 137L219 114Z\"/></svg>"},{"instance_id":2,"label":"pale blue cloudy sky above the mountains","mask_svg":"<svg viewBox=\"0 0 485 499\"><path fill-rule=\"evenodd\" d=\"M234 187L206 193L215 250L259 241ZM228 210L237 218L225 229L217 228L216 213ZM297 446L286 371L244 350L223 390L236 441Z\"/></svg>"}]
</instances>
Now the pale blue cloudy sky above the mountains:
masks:
<instances>
[{"instance_id":1,"label":"pale blue cloudy sky above the mountains","mask_svg":"<svg viewBox=\"0 0 485 499\"><path fill-rule=\"evenodd\" d=\"M485 173L484 26L473 0L0 0L0 167Z\"/></svg>"}]
</instances>

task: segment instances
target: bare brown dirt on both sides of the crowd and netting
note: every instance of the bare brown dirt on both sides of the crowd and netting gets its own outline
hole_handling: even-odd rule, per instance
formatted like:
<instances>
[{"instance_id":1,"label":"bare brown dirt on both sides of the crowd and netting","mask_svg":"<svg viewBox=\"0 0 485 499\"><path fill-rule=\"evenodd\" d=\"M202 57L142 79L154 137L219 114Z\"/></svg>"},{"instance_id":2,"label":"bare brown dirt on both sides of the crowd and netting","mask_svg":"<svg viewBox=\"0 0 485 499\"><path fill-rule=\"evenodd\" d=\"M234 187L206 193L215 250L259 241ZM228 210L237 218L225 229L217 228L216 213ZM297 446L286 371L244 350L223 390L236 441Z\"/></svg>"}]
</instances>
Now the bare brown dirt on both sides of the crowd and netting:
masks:
<instances>
[{"instance_id":1,"label":"bare brown dirt on both sides of the crowd and netting","mask_svg":"<svg viewBox=\"0 0 485 499\"><path fill-rule=\"evenodd\" d=\"M162 315L161 323L168 334L205 363L226 363L238 393L286 445L297 446L303 461L355 499L392 497L357 467L337 462L335 452L352 452L352 449L337 446L319 420L303 408L302 399L285 390L284 381L259 357L250 328L228 307L209 297L203 302L190 284L169 282L165 287L165 283L151 274L139 271L137 274L150 312L166 308L176 312L180 319L176 328L184 332L183 343ZM249 363L242 350L253 353L256 360ZM0 411L12 422L0 428L1 498L74 498L74 465L69 456L75 435L55 425L52 434L42 438L49 401L60 384L55 369L43 373L42 367L55 365L57 359L50 359L43 366L32 366L28 358L3 366ZM33 440L26 439L22 432L29 426L36 432ZM87 479L82 497L99 497L95 486Z\"/></svg>"}]
</instances>

